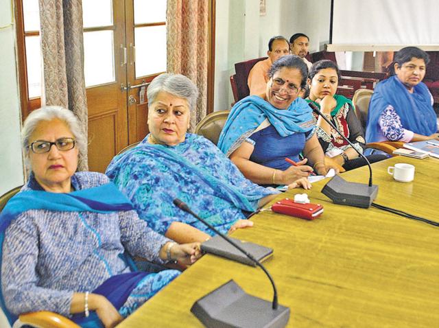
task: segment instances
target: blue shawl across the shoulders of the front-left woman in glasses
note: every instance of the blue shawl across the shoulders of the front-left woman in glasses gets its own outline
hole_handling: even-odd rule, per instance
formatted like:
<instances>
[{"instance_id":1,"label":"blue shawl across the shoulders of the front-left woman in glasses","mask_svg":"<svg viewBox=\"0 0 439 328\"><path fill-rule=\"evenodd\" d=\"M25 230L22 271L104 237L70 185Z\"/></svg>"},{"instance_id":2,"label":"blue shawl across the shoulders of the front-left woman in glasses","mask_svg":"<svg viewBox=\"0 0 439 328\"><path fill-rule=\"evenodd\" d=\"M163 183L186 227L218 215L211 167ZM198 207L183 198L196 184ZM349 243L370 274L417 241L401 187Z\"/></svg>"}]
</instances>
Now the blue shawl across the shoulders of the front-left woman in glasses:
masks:
<instances>
[{"instance_id":1,"label":"blue shawl across the shoulders of the front-left woman in glasses","mask_svg":"<svg viewBox=\"0 0 439 328\"><path fill-rule=\"evenodd\" d=\"M51 211L91 211L110 213L132 210L130 201L121 194L113 183L98 187L73 191L69 194L57 194L47 191L20 191L12 197L0 214L0 268L3 251L3 239L8 226L20 213L30 209ZM1 288L1 285L0 285ZM129 293L128 293L129 294ZM122 303L123 304L123 303ZM16 316L5 307L3 292L0 290L0 306L12 325Z\"/></svg>"}]
</instances>

